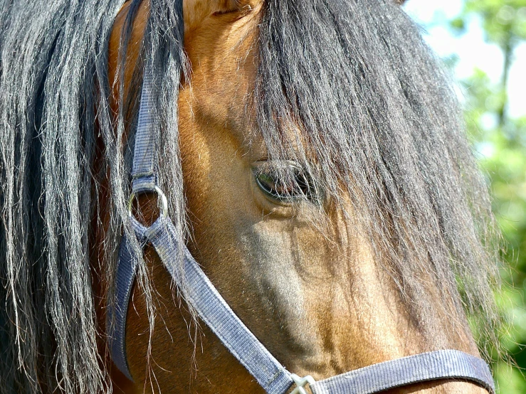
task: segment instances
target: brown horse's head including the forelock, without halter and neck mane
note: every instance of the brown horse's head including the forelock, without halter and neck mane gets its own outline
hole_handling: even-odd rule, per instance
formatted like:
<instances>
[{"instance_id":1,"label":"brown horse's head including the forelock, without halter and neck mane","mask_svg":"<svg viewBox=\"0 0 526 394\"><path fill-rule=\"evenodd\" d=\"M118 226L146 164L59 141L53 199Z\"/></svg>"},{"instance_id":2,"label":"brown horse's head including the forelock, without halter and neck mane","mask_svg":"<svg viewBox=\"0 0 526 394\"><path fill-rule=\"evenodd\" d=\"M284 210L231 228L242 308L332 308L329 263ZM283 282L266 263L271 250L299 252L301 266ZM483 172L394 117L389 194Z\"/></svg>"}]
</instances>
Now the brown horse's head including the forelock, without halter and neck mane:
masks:
<instances>
[{"instance_id":1,"label":"brown horse's head including the forelock, without halter and neck mane","mask_svg":"<svg viewBox=\"0 0 526 394\"><path fill-rule=\"evenodd\" d=\"M438 93L426 84L419 88L431 91L418 97L412 91L416 86L403 85L419 78L401 75L419 73L414 63L422 54L411 48L417 33L382 36L408 22L396 5L380 4L376 11L386 16L375 18L374 10L343 2L184 1L188 72L182 77L178 111L187 245L270 353L288 370L315 379L442 348L478 355L451 286L451 268L446 268L450 241L439 222L448 204L441 206L443 201L432 194L440 193L433 190L438 183L448 188L448 181L461 176L458 164L452 157L441 159L437 167L451 174L430 182L437 184L426 183L426 170L438 178L446 174L430 168L435 154L425 156L418 149L449 154L450 148L439 146L444 136L431 136L428 130L389 135L391 129L380 129L415 122L432 111L419 107L426 93ZM359 16L352 16L356 11ZM117 78L129 12L130 4L113 28L110 80ZM149 3L135 12L124 83L114 84L114 97L123 96L120 89L130 95L136 80ZM382 18L392 26L382 25ZM350 48L352 43L357 47ZM367 63L359 46L366 51L372 46L385 63ZM386 68L394 71L382 75ZM396 81L391 85L389 78ZM393 89L392 97L375 96L382 87ZM368 98L375 102L367 103ZM397 118L389 119L396 110ZM433 127L450 132L450 126ZM373 141L362 140L368 138ZM429 139L420 141L424 138ZM396 139L404 146L394 147ZM163 157L159 163L163 171ZM397 184L404 172L420 190L406 192ZM367 182L366 190L360 188ZM423 205L411 206L420 198ZM448 198L465 204L465 196ZM369 204L369 199L377 201ZM399 206L404 203L408 206ZM152 223L158 215L154 200L144 196L141 206L144 220ZM426 234L414 236L417 228ZM147 250L145 260L157 315L149 336L147 301L136 286L126 341L137 387L199 393L261 390L206 326L194 326L155 252ZM411 390L484 391L442 380Z\"/></svg>"}]
</instances>

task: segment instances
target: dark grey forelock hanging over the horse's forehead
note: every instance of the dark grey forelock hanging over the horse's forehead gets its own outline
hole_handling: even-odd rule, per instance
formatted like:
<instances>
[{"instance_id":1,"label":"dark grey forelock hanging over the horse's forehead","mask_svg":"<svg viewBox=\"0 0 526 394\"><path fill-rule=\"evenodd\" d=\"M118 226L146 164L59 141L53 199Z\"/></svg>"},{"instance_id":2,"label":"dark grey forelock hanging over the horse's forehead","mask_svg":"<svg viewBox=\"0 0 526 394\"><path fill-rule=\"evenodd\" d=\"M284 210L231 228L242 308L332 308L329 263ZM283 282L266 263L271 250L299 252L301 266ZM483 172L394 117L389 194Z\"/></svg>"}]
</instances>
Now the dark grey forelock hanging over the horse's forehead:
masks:
<instances>
[{"instance_id":1,"label":"dark grey forelock hanging over the horse's forehead","mask_svg":"<svg viewBox=\"0 0 526 394\"><path fill-rule=\"evenodd\" d=\"M351 197L409 304L425 310L419 272L431 272L443 302L495 319L487 186L448 75L415 23L388 0L268 1L259 29L254 106L269 156L314 156L312 176L335 201Z\"/></svg>"}]
</instances>

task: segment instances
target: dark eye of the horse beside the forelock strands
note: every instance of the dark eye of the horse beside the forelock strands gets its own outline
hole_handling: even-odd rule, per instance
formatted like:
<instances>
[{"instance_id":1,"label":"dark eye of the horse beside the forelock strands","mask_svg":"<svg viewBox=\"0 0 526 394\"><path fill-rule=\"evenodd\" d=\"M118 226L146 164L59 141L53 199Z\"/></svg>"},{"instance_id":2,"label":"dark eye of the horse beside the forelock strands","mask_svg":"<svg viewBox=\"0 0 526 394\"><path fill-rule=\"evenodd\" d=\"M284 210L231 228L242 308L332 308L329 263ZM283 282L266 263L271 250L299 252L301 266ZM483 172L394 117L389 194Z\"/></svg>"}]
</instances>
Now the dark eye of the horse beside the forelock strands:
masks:
<instances>
[{"instance_id":1,"label":"dark eye of the horse beside the forelock strands","mask_svg":"<svg viewBox=\"0 0 526 394\"><path fill-rule=\"evenodd\" d=\"M278 201L290 202L300 198L314 202L317 200L314 183L304 172L295 167L288 166L284 171L283 166L273 168L266 165L254 170L258 187L270 198Z\"/></svg>"}]
</instances>

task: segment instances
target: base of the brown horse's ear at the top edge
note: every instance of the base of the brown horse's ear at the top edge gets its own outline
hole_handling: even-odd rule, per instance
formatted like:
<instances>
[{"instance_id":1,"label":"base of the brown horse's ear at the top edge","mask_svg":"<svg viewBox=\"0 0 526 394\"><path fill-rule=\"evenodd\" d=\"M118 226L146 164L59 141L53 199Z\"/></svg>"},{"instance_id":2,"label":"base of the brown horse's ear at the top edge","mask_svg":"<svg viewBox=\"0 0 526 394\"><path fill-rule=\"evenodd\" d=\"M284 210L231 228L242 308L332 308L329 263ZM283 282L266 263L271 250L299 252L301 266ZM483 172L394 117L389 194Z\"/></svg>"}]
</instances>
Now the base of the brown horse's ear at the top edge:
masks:
<instances>
[{"instance_id":1,"label":"base of the brown horse's ear at the top edge","mask_svg":"<svg viewBox=\"0 0 526 394\"><path fill-rule=\"evenodd\" d=\"M235 11L250 11L263 0L184 0L184 31L193 28L212 14L227 14Z\"/></svg>"}]
</instances>

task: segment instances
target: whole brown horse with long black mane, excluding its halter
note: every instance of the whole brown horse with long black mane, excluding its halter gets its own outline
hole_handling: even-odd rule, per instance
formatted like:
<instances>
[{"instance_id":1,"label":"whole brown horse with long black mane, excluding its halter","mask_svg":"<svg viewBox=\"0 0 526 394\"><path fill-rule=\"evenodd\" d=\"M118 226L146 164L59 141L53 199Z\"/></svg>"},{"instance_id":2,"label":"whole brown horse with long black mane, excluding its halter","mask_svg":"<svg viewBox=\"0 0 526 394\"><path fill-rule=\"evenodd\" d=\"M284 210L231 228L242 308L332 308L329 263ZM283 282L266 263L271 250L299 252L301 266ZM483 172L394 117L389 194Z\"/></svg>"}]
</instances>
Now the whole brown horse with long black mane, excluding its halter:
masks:
<instances>
[{"instance_id":1,"label":"whole brown horse with long black mane, excluding its halter","mask_svg":"<svg viewBox=\"0 0 526 394\"><path fill-rule=\"evenodd\" d=\"M151 225L165 211L298 376L441 349L478 357L470 323L491 344L488 190L447 73L397 1L2 11L0 393L263 393L134 240L130 215ZM129 198L146 75L160 208L156 193ZM108 315L126 236L139 253L120 371ZM416 392L487 391L463 379L389 390Z\"/></svg>"}]
</instances>

